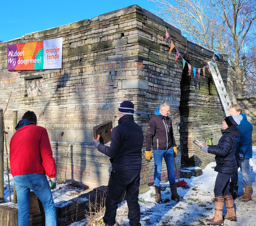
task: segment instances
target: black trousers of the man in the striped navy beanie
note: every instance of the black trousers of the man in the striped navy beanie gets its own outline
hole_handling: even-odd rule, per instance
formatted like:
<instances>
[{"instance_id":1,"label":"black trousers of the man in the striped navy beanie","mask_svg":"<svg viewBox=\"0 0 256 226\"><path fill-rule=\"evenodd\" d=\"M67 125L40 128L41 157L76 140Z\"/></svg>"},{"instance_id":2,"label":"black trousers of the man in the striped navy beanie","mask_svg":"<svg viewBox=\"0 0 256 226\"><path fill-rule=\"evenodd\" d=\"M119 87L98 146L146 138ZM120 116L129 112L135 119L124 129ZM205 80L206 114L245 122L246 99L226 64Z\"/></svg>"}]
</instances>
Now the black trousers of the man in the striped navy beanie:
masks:
<instances>
[{"instance_id":1,"label":"black trousers of the man in the striped navy beanie","mask_svg":"<svg viewBox=\"0 0 256 226\"><path fill-rule=\"evenodd\" d=\"M131 226L141 226L141 210L138 202L141 170L111 171L106 197L106 211L103 222L107 225L115 224L117 204L126 190L128 219Z\"/></svg>"}]
</instances>

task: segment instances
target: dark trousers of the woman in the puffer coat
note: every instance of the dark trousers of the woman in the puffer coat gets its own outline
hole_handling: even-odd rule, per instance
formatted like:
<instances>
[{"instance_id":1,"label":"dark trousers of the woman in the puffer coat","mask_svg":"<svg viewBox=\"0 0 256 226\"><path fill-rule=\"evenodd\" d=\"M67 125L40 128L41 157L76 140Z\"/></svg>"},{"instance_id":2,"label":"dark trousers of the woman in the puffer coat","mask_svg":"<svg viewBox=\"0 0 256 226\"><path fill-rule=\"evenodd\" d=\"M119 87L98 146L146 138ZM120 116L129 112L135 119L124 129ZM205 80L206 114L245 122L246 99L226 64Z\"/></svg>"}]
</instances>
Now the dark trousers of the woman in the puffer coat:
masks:
<instances>
[{"instance_id":1,"label":"dark trousers of the woman in the puffer coat","mask_svg":"<svg viewBox=\"0 0 256 226\"><path fill-rule=\"evenodd\" d=\"M223 196L230 195L229 193L229 181L233 174L218 173L215 181L214 195Z\"/></svg>"}]
</instances>

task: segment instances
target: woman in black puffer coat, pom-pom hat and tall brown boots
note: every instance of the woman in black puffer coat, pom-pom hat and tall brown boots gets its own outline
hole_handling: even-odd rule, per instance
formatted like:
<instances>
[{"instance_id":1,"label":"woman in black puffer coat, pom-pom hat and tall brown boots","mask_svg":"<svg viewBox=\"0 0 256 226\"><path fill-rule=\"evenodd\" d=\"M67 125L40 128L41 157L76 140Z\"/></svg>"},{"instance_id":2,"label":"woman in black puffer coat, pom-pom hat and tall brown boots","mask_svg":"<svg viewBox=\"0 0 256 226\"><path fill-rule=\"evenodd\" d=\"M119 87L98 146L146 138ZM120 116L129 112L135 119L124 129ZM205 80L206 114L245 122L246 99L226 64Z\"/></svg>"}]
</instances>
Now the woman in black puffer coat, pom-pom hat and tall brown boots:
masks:
<instances>
[{"instance_id":1,"label":"woman in black puffer coat, pom-pom hat and tall brown boots","mask_svg":"<svg viewBox=\"0 0 256 226\"><path fill-rule=\"evenodd\" d=\"M215 181L214 195L215 195L215 211L212 219L207 219L207 224L223 225L222 210L224 200L227 207L227 214L225 219L236 221L234 204L232 196L229 193L229 181L231 176L237 172L237 163L235 160L236 137L240 136L240 130L237 126L240 124L242 117L228 116L222 122L223 134L219 140L218 145L205 146L202 150L215 156L216 167L218 172Z\"/></svg>"}]
</instances>

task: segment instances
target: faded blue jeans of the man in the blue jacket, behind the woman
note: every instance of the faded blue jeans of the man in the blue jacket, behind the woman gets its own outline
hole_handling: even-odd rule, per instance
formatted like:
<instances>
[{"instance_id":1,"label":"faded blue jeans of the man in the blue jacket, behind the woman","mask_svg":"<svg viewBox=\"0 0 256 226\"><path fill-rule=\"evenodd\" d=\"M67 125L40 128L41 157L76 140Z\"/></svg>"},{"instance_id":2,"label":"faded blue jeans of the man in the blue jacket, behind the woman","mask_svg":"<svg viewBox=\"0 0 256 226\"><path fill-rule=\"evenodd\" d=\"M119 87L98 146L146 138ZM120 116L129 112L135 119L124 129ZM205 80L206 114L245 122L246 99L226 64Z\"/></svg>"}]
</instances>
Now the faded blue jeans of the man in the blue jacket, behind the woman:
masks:
<instances>
[{"instance_id":1,"label":"faded blue jeans of the man in the blue jacket, behind the woman","mask_svg":"<svg viewBox=\"0 0 256 226\"><path fill-rule=\"evenodd\" d=\"M250 175L250 163L249 159L243 159L239 160L236 159L237 166L240 167L242 177L244 179L244 185L245 186L251 186L251 175ZM238 182L238 173L235 173L231 177L231 183L232 184L237 184Z\"/></svg>"}]
</instances>

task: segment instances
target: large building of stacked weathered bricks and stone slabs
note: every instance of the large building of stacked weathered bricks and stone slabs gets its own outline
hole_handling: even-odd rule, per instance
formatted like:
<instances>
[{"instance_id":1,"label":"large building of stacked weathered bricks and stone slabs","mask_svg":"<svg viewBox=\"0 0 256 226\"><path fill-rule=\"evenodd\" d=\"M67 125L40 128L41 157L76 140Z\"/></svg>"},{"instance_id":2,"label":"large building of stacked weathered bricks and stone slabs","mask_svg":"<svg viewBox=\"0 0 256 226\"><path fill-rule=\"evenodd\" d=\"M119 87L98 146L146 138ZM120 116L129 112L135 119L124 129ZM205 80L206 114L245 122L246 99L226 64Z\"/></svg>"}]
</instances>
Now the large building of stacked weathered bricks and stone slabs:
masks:
<instances>
[{"instance_id":1,"label":"large building of stacked weathered bricks and stone slabs","mask_svg":"<svg viewBox=\"0 0 256 226\"><path fill-rule=\"evenodd\" d=\"M183 166L204 168L214 156L202 152L192 140L207 143L210 139L216 144L224 111L208 71L205 77L201 73L194 78L187 65L182 68L181 58L175 62L175 50L169 52L170 41L164 40L166 29L192 67L204 67L212 59L213 51L187 40L179 29L137 5L0 43L4 108L12 91L5 112L8 140L12 109L18 109L18 120L25 111L34 111L38 125L49 133L58 180L98 187L107 184L111 164L91 146L93 127L107 120L116 126L119 104L130 100L135 121L145 134L155 108L166 102L171 106L179 171ZM7 71L8 44L59 37L63 38L61 70ZM226 82L227 56L220 55L216 62ZM36 80L40 80L39 96L28 93ZM162 180L167 179L163 166ZM153 169L153 161L143 158L141 183L153 183Z\"/></svg>"}]
</instances>

